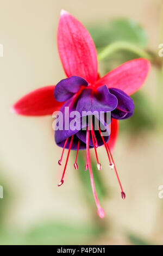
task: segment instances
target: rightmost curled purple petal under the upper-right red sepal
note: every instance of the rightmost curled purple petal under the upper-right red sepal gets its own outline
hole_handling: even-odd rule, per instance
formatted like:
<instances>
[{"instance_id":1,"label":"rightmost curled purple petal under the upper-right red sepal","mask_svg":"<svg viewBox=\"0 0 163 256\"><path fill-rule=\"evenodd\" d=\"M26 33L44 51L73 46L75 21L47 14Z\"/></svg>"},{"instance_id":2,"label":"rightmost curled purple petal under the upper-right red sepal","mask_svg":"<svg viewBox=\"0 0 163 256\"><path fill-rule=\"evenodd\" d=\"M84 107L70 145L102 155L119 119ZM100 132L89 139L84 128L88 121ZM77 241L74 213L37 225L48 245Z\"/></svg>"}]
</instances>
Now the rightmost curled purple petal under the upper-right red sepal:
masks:
<instances>
[{"instance_id":1,"label":"rightmost curled purple petal under the upper-right red sepal","mask_svg":"<svg viewBox=\"0 0 163 256\"><path fill-rule=\"evenodd\" d=\"M109 88L111 94L115 95L118 100L118 105L111 112L111 117L115 119L126 119L134 113L134 102L130 96L117 88Z\"/></svg>"}]
</instances>

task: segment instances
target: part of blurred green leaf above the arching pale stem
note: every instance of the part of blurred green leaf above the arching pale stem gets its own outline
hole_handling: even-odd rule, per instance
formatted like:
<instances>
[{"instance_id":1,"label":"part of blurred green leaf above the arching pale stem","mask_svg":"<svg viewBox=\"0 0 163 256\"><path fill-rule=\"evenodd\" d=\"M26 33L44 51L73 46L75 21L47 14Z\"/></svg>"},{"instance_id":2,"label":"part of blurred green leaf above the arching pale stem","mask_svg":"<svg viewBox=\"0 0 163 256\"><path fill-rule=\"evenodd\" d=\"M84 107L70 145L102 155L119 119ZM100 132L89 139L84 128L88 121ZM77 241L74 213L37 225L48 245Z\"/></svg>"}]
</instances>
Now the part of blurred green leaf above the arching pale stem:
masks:
<instances>
[{"instance_id":1,"label":"part of blurred green leaf above the arching pale stem","mask_svg":"<svg viewBox=\"0 0 163 256\"><path fill-rule=\"evenodd\" d=\"M104 47L111 42L127 41L145 48L147 33L137 22L129 19L116 19L94 25L88 28L97 48Z\"/></svg>"}]
</instances>

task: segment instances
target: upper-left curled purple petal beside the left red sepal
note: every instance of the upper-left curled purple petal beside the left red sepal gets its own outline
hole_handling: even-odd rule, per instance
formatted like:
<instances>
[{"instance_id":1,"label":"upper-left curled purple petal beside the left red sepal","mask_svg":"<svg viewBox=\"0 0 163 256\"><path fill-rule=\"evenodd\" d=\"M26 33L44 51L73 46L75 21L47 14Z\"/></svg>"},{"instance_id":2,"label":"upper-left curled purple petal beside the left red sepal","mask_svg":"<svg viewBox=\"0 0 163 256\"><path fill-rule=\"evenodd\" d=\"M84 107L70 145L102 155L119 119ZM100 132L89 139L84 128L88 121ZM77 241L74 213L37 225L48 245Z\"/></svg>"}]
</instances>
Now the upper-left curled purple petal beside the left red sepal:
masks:
<instances>
[{"instance_id":1,"label":"upper-left curled purple petal beside the left red sepal","mask_svg":"<svg viewBox=\"0 0 163 256\"><path fill-rule=\"evenodd\" d=\"M57 101L70 99L75 93L79 92L82 86L87 86L87 81L80 76L71 76L61 80L54 89L54 97Z\"/></svg>"}]
</instances>

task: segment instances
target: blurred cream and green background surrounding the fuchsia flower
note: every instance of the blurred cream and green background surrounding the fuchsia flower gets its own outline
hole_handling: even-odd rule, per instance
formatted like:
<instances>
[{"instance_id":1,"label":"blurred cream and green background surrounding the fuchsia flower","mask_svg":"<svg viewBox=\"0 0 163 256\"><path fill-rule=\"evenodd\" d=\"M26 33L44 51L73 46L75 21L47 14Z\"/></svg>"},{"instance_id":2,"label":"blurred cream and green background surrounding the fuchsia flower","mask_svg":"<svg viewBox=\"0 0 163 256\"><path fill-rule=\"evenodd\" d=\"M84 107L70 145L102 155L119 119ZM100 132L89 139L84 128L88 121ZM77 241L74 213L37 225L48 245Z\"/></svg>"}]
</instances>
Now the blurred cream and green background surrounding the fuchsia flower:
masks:
<instances>
[{"instance_id":1,"label":"blurred cream and green background surrounding the fuchsia flower","mask_svg":"<svg viewBox=\"0 0 163 256\"><path fill-rule=\"evenodd\" d=\"M161 0L0 0L1 145L0 243L35 245L163 244ZM101 75L129 59L147 57L152 69L133 95L135 114L120 121L114 159L126 192L99 148L103 169L94 168L105 209L101 220L83 155L78 170L71 153L64 186L58 187L61 149L54 143L52 117L23 117L11 105L30 90L65 77L57 50L60 10L69 11L91 33ZM114 50L102 56L111 45ZM112 49L111 48L111 49ZM92 155L93 161L94 155Z\"/></svg>"}]
</instances>

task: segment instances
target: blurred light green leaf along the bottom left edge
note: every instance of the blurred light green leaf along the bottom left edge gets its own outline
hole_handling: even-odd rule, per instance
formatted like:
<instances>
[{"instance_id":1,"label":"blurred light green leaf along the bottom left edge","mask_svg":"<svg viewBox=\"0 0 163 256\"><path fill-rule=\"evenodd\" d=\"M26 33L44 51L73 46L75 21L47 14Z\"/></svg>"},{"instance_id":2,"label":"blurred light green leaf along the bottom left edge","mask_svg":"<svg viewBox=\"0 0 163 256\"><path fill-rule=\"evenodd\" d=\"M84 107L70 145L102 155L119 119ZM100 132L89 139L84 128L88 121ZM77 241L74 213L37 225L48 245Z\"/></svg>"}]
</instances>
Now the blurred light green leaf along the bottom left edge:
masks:
<instances>
[{"instance_id":1,"label":"blurred light green leaf along the bottom left edge","mask_svg":"<svg viewBox=\"0 0 163 256\"><path fill-rule=\"evenodd\" d=\"M0 245L78 245L89 244L93 237L101 234L98 225L70 225L47 222L37 225L27 233L1 230Z\"/></svg>"}]
</instances>

